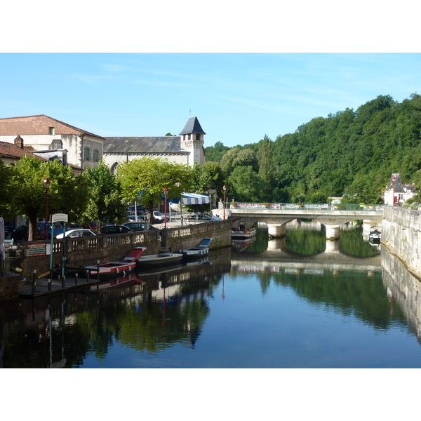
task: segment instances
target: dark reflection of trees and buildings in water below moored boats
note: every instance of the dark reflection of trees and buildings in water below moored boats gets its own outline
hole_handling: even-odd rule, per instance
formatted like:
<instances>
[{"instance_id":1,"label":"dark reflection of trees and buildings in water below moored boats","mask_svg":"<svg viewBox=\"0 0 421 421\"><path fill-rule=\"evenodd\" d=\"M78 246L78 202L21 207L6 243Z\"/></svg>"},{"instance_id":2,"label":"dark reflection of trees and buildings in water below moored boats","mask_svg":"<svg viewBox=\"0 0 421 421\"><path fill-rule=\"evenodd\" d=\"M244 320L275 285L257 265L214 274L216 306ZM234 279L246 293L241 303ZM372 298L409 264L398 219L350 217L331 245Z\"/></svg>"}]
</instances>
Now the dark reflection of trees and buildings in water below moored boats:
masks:
<instances>
[{"instance_id":1,"label":"dark reflection of trees and buildings in water below moored boats","mask_svg":"<svg viewBox=\"0 0 421 421\"><path fill-rule=\"evenodd\" d=\"M205 259L4 303L1 366L79 367L91 355L105 361L117 343L147 354L178 343L194 347L208 298L230 267L227 250L210 256L212 265Z\"/></svg>"}]
</instances>

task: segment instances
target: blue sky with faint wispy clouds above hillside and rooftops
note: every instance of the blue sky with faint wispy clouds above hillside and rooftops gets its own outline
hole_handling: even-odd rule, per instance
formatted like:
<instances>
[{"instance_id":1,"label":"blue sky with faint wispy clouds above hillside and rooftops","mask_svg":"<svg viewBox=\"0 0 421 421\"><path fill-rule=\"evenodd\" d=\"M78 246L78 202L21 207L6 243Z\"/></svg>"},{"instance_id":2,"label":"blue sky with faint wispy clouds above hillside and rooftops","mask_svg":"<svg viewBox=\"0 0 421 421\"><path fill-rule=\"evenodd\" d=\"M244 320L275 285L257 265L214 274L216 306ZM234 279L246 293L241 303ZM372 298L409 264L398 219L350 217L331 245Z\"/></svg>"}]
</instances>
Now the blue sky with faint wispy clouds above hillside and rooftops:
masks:
<instances>
[{"instance_id":1,"label":"blue sky with faint wispy clouds above hillside and rooftops","mask_svg":"<svg viewBox=\"0 0 421 421\"><path fill-rule=\"evenodd\" d=\"M377 95L421 93L420 53L2 53L0 117L46 114L102 136L206 146L272 140Z\"/></svg>"}]
</instances>

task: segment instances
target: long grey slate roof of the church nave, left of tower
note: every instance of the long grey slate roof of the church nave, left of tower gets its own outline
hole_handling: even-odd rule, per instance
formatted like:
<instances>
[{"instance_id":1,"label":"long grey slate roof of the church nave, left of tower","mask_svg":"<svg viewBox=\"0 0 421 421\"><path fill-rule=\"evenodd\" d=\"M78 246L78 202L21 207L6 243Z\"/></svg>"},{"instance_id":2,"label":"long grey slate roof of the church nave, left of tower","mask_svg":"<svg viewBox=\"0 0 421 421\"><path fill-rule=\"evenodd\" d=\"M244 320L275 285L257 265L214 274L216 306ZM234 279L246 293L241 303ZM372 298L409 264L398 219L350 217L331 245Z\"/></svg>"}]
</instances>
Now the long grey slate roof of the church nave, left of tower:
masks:
<instances>
[{"instance_id":1,"label":"long grey slate roof of the church nave, left of tower","mask_svg":"<svg viewBox=\"0 0 421 421\"><path fill-rule=\"evenodd\" d=\"M179 136L142 136L137 138L105 138L104 154L183 153Z\"/></svg>"}]
</instances>

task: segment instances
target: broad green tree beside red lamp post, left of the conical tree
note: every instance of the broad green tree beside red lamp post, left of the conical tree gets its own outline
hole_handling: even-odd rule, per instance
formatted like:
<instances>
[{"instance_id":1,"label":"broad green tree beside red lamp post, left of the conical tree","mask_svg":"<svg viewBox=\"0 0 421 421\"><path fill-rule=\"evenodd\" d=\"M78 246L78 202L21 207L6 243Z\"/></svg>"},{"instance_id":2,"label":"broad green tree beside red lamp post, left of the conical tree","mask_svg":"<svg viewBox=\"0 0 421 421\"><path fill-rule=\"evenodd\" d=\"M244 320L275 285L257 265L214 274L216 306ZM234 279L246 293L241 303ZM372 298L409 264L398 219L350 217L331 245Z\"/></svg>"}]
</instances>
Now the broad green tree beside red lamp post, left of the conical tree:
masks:
<instances>
[{"instance_id":1,"label":"broad green tree beside red lamp post, left of the conical tree","mask_svg":"<svg viewBox=\"0 0 421 421\"><path fill-rule=\"evenodd\" d=\"M88 185L83 177L76 177L72 168L57 161L41 161L23 156L13 167L11 178L11 212L29 219L29 241L34 239L37 218L46 212L44 180L50 180L48 213L66 213L69 221L81 217L88 200Z\"/></svg>"}]
</instances>

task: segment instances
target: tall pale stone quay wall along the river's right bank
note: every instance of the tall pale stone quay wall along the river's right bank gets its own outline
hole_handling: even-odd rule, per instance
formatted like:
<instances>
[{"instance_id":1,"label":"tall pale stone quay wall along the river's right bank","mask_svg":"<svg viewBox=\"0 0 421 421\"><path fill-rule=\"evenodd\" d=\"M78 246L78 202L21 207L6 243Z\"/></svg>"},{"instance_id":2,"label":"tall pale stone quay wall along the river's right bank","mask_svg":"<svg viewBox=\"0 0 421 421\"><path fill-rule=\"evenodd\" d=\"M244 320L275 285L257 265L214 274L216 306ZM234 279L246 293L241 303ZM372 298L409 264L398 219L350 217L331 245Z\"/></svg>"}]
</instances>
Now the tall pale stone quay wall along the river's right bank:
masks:
<instances>
[{"instance_id":1,"label":"tall pale stone quay wall along the river's right bank","mask_svg":"<svg viewBox=\"0 0 421 421\"><path fill-rule=\"evenodd\" d=\"M382 246L421 279L421 212L387 206L383 210Z\"/></svg>"}]
</instances>

